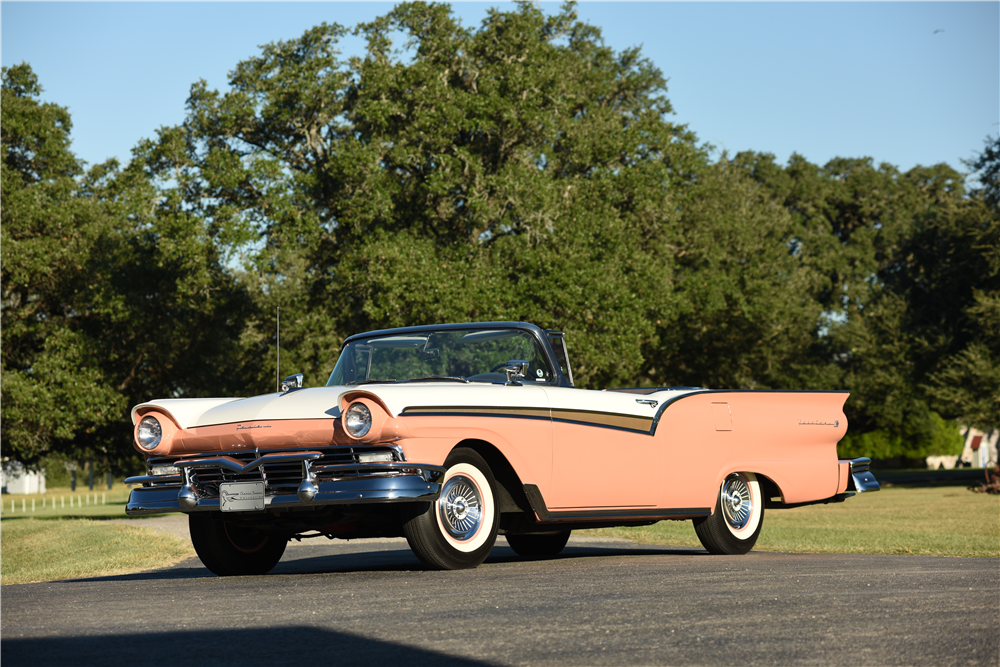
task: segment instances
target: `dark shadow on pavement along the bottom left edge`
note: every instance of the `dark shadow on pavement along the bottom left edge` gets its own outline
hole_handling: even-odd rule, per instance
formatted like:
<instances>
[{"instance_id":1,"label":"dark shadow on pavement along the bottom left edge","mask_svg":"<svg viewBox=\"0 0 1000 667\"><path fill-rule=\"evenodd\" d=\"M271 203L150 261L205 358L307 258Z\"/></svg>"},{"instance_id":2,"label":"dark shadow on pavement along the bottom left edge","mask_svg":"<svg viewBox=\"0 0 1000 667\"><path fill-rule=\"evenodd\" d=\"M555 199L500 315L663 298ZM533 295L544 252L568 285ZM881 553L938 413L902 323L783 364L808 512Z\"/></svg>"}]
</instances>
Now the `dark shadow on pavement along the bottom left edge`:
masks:
<instances>
[{"instance_id":1,"label":"dark shadow on pavement along the bottom left edge","mask_svg":"<svg viewBox=\"0 0 1000 667\"><path fill-rule=\"evenodd\" d=\"M240 628L136 635L11 639L0 644L4 667L115 664L175 667L192 661L201 665L287 664L317 656L321 664L458 665L492 663L367 639L322 628Z\"/></svg>"}]
</instances>

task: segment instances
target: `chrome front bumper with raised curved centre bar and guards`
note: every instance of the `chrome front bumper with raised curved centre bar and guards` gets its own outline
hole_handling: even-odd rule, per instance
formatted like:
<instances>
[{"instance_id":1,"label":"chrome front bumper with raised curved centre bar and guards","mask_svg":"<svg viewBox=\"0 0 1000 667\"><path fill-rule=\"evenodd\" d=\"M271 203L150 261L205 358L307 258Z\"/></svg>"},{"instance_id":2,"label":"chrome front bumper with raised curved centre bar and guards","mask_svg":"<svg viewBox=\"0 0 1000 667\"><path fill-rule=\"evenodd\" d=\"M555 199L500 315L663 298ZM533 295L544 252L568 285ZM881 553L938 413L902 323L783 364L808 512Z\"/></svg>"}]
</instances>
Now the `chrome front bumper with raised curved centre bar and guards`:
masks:
<instances>
[{"instance_id":1,"label":"chrome front bumper with raised curved centre bar and guards","mask_svg":"<svg viewBox=\"0 0 1000 667\"><path fill-rule=\"evenodd\" d=\"M280 458L279 458L280 457ZM141 486L132 489L125 513L129 516L160 514L163 512L211 512L221 511L218 496L211 496L199 489L191 479L191 470L201 466L222 466L234 472L249 472L261 463L278 461L301 461L302 483L296 493L268 494L264 496L264 510L284 510L309 508L321 505L361 505L370 503L430 502L437 500L441 493L441 480L445 469L441 466L397 463L361 463L351 465L325 466L323 475L347 475L331 480L323 480L311 469L315 452L297 454L268 455L270 461L258 459L242 465L235 459L220 457L194 459L178 462L180 475L130 477L126 484L148 484L177 482L162 486ZM262 457L265 458L265 457ZM239 469L237 469L237 467ZM378 474L372 471L386 469L398 471L395 474ZM361 473L361 474L359 474ZM364 474L368 473L368 474Z\"/></svg>"}]
</instances>

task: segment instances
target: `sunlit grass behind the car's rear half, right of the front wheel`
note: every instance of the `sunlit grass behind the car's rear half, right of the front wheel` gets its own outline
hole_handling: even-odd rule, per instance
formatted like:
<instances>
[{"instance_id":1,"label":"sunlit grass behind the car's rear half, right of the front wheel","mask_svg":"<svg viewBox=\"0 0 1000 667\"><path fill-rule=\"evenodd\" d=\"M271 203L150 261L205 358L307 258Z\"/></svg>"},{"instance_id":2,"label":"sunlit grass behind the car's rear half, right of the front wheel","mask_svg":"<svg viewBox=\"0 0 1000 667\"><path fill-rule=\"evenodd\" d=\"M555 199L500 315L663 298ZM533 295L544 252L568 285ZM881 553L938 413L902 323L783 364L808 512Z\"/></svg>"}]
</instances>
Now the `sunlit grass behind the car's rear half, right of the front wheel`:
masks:
<instances>
[{"instance_id":1,"label":"sunlit grass behind the car's rear half, right of the front wheel","mask_svg":"<svg viewBox=\"0 0 1000 667\"><path fill-rule=\"evenodd\" d=\"M699 547L690 521L580 535ZM1000 557L1000 496L963 486L889 486L834 505L768 510L755 551Z\"/></svg>"}]
</instances>

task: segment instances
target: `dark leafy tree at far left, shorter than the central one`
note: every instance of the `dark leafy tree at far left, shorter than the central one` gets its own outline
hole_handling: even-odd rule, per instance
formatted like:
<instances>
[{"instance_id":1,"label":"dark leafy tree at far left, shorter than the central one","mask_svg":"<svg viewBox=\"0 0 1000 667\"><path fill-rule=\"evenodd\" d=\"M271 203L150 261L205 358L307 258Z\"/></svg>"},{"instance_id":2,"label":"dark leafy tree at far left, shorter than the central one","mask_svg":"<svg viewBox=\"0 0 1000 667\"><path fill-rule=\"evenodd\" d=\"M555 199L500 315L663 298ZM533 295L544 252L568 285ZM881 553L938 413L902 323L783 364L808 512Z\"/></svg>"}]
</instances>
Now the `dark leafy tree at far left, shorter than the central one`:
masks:
<instances>
[{"instance_id":1,"label":"dark leafy tree at far left, shorter than the central one","mask_svg":"<svg viewBox=\"0 0 1000 667\"><path fill-rule=\"evenodd\" d=\"M84 173L29 66L4 68L2 94L4 455L120 469L131 405L225 386L233 290L179 200L114 162Z\"/></svg>"}]
</instances>

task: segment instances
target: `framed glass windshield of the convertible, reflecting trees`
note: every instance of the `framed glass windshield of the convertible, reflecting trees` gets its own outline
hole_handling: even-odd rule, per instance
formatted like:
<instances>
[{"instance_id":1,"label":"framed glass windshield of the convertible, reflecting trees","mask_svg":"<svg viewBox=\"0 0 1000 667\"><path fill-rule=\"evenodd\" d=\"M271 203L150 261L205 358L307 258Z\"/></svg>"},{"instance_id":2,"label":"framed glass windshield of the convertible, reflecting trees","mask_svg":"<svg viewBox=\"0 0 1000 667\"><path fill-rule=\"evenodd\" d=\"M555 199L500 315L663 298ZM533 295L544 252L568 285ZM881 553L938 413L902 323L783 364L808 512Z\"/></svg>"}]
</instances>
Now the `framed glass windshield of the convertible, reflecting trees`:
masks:
<instances>
[{"instance_id":1,"label":"framed glass windshield of the convertible, reflecting trees","mask_svg":"<svg viewBox=\"0 0 1000 667\"><path fill-rule=\"evenodd\" d=\"M328 387L363 382L504 383L508 361L526 361L525 383L553 381L538 341L527 331L424 331L353 340L340 354Z\"/></svg>"}]
</instances>

